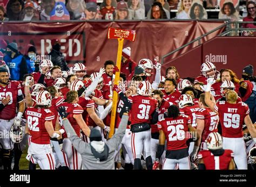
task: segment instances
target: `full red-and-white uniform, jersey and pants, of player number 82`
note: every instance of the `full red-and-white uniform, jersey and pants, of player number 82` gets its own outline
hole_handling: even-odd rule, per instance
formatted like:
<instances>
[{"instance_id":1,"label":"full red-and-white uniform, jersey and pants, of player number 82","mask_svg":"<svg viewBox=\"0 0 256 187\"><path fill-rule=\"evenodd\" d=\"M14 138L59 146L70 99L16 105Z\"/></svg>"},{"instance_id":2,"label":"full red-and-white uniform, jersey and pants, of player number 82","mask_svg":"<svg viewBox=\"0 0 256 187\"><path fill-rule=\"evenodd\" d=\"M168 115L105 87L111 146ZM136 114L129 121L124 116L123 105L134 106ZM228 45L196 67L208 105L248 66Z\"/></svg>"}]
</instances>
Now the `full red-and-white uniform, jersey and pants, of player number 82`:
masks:
<instances>
[{"instance_id":1,"label":"full red-and-white uniform, jersey and pants, of player number 82","mask_svg":"<svg viewBox=\"0 0 256 187\"><path fill-rule=\"evenodd\" d=\"M41 169L55 169L50 136L45 128L45 122L52 121L55 115L49 109L38 110L35 107L29 107L25 115L31 135L28 149L31 162L38 163Z\"/></svg>"}]
</instances>

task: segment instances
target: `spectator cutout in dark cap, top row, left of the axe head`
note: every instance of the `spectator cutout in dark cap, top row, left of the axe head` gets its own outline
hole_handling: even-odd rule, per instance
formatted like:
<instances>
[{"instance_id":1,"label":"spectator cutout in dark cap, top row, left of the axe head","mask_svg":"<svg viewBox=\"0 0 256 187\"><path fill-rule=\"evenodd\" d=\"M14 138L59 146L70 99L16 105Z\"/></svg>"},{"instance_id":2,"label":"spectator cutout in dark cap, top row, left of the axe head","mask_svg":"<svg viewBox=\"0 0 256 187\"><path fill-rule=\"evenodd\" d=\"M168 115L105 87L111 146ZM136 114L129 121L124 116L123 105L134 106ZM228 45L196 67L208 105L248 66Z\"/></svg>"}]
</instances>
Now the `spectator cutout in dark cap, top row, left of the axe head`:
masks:
<instances>
[{"instance_id":1,"label":"spectator cutout in dark cap, top row, left of the axe head","mask_svg":"<svg viewBox=\"0 0 256 187\"><path fill-rule=\"evenodd\" d=\"M86 9L82 14L80 20L95 20L102 19L100 11L97 10L97 4L95 2L86 3Z\"/></svg>"}]
</instances>

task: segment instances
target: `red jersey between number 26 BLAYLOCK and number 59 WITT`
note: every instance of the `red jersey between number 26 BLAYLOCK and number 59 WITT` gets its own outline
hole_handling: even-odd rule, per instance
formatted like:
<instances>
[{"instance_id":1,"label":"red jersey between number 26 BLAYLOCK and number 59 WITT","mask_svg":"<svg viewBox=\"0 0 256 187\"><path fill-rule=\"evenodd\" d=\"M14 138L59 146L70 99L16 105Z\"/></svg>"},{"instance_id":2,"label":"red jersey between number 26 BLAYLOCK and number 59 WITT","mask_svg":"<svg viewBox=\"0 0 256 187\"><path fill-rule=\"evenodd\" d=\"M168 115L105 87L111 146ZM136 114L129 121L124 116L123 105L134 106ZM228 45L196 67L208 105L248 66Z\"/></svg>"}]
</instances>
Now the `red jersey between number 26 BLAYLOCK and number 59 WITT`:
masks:
<instances>
[{"instance_id":1,"label":"red jersey between number 26 BLAYLOCK and number 59 WITT","mask_svg":"<svg viewBox=\"0 0 256 187\"><path fill-rule=\"evenodd\" d=\"M218 132L219 116L216 112L213 112L209 108L201 108L196 112L196 118L203 119L205 122L205 128L202 134L201 142L205 142L207 136L211 132Z\"/></svg>"}]
</instances>

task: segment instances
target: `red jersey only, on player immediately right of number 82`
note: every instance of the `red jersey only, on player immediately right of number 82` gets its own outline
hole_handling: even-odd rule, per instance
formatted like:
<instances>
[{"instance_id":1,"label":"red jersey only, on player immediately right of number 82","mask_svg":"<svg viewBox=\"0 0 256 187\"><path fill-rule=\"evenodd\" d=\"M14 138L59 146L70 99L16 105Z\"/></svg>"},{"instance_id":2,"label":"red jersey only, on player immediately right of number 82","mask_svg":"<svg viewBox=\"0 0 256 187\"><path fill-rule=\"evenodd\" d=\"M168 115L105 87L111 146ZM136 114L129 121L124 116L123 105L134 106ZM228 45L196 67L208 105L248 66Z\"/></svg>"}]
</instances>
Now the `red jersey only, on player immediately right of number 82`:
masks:
<instances>
[{"instance_id":1,"label":"red jersey only, on player immediately right of number 82","mask_svg":"<svg viewBox=\"0 0 256 187\"><path fill-rule=\"evenodd\" d=\"M83 108L78 103L62 103L60 106L64 106L66 112L69 114L68 119L73 129L75 130L78 137L80 137L80 127L73 115L82 114L84 112ZM63 138L68 138L66 133L64 133Z\"/></svg>"}]
</instances>

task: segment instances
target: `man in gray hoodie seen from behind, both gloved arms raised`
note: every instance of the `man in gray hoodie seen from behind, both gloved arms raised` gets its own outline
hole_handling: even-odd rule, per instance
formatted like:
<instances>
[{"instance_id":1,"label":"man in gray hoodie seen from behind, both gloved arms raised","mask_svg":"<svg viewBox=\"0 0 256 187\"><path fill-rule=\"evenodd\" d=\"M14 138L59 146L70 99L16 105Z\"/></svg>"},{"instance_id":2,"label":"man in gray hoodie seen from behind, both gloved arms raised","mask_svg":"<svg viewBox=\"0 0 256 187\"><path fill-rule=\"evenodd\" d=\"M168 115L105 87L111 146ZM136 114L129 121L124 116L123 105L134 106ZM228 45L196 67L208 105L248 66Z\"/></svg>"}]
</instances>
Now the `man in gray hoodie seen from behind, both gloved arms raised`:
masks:
<instances>
[{"instance_id":1,"label":"man in gray hoodie seen from behind, both gloved arms raised","mask_svg":"<svg viewBox=\"0 0 256 187\"><path fill-rule=\"evenodd\" d=\"M99 130L93 128L90 134L90 143L86 143L77 136L69 120L66 118L68 114L65 111L65 107L59 107L58 112L62 117L65 132L68 134L72 145L82 155L83 169L114 169L114 156L125 134L130 108L130 105L124 105L119 128L110 140L103 142Z\"/></svg>"}]
</instances>

